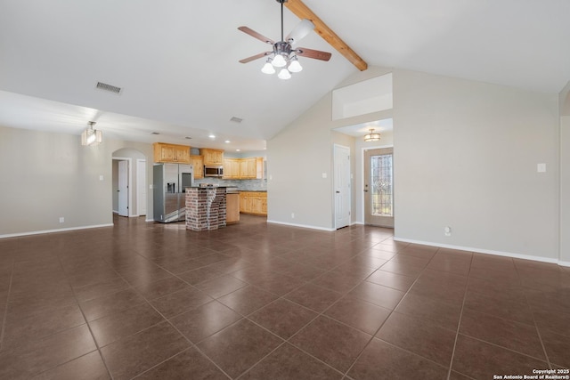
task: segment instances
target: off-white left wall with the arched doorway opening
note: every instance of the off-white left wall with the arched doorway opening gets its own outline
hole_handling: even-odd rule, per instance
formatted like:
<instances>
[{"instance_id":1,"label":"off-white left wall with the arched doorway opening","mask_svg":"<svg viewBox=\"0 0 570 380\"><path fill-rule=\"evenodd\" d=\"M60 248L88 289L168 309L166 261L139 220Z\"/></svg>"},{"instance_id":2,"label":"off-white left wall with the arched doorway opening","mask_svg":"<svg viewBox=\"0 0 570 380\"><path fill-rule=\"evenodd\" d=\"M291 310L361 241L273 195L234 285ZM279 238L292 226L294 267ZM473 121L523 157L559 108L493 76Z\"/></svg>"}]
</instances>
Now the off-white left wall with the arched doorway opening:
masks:
<instances>
[{"instance_id":1,"label":"off-white left wall with the arched doorway opening","mask_svg":"<svg viewBox=\"0 0 570 380\"><path fill-rule=\"evenodd\" d=\"M151 144L103 135L101 145L83 147L78 135L0 126L0 237L112 224L111 156L121 148L152 161ZM151 182L151 166L147 174Z\"/></svg>"}]
</instances>

